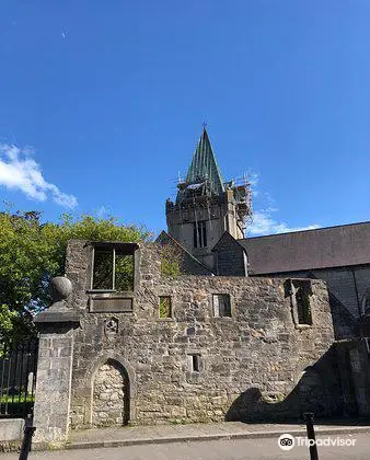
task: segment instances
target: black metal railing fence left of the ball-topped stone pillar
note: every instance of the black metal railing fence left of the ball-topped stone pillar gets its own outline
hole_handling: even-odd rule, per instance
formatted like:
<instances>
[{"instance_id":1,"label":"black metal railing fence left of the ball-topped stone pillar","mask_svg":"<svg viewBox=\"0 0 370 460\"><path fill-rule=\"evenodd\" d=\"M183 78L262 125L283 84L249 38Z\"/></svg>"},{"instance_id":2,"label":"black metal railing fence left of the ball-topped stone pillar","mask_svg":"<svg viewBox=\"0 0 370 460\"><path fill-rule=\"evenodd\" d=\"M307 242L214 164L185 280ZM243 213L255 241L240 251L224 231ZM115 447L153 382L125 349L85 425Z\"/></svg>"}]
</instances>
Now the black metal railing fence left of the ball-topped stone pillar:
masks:
<instances>
[{"instance_id":1,"label":"black metal railing fence left of the ball-topped stone pillar","mask_svg":"<svg viewBox=\"0 0 370 460\"><path fill-rule=\"evenodd\" d=\"M35 401L38 341L0 346L0 418L25 417Z\"/></svg>"}]
</instances>

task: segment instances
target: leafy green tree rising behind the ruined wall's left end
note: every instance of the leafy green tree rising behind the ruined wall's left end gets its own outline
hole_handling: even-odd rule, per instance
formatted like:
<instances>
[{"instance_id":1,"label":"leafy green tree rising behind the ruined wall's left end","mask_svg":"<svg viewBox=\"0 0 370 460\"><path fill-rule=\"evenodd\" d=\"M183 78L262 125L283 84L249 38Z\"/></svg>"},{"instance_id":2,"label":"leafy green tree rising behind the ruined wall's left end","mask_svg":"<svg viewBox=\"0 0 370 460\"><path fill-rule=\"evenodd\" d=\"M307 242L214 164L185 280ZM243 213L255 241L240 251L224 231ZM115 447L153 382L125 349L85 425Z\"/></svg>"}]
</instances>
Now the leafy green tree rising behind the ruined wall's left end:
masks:
<instances>
[{"instance_id":1,"label":"leafy green tree rising behind the ruined wall's left end","mask_svg":"<svg viewBox=\"0 0 370 460\"><path fill-rule=\"evenodd\" d=\"M144 227L125 226L109 217L41 222L37 211L0 212L0 336L35 333L30 315L50 302L50 278L65 272L68 240L139 242L151 240Z\"/></svg>"}]
</instances>

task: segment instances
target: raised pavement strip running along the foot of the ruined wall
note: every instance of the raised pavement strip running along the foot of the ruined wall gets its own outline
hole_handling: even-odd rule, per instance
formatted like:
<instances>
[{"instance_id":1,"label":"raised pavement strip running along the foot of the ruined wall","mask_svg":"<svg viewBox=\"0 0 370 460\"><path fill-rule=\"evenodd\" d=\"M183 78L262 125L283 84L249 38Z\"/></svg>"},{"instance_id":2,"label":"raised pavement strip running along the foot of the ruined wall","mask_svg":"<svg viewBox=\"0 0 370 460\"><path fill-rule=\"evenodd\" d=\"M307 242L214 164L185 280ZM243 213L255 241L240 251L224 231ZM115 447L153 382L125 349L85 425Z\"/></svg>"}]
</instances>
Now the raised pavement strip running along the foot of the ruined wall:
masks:
<instances>
[{"instance_id":1,"label":"raised pavement strip running along the foot of the ruined wall","mask_svg":"<svg viewBox=\"0 0 370 460\"><path fill-rule=\"evenodd\" d=\"M346 423L346 425L343 425ZM282 434L305 436L305 425L298 424L245 424L223 422L217 424L127 426L72 430L66 449L159 445L186 441L215 441L233 439L277 439ZM339 421L315 425L320 435L370 434L369 422ZM35 446L37 448L37 446Z\"/></svg>"}]
</instances>

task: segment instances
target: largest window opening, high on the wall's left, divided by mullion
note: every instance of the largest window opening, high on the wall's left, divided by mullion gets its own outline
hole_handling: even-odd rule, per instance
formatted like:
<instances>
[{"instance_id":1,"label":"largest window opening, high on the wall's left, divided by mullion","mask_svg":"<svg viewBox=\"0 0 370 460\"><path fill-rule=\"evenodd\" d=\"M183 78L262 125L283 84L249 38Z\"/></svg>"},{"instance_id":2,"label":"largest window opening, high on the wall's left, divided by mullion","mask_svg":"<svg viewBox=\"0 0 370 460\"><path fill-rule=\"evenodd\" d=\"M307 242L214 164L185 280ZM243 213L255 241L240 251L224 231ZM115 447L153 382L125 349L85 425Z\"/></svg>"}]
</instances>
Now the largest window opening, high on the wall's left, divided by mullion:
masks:
<instances>
[{"instance_id":1,"label":"largest window opening, high on the wall's left, divided by mullion","mask_svg":"<svg viewBox=\"0 0 370 460\"><path fill-rule=\"evenodd\" d=\"M92 288L134 290L134 254L127 254L119 248L94 248Z\"/></svg>"}]
</instances>

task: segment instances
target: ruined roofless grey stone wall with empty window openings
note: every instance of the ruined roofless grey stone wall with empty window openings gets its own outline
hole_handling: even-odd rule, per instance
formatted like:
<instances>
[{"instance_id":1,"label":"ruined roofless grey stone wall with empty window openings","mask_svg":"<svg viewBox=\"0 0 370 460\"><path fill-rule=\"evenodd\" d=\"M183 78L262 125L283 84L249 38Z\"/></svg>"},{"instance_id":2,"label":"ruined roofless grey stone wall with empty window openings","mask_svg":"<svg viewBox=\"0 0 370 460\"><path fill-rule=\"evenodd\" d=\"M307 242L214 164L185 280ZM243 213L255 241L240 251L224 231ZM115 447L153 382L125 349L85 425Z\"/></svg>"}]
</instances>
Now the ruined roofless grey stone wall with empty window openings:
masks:
<instances>
[{"instance_id":1,"label":"ruined roofless grey stone wall with empty window openings","mask_svg":"<svg viewBox=\"0 0 370 460\"><path fill-rule=\"evenodd\" d=\"M92 313L91 246L77 240L69 244L67 275L74 287L69 304L81 313L74 332L73 427L94 424L95 379L108 360L127 375L127 399L120 399L119 411L131 423L294 418L303 410L317 416L340 411L323 281L312 281L312 326L300 326L284 279L164 279L154 244L137 250L136 265L132 312ZM230 295L231 318L215 318L215 294ZM171 296L171 318L159 318L159 296Z\"/></svg>"}]
</instances>

